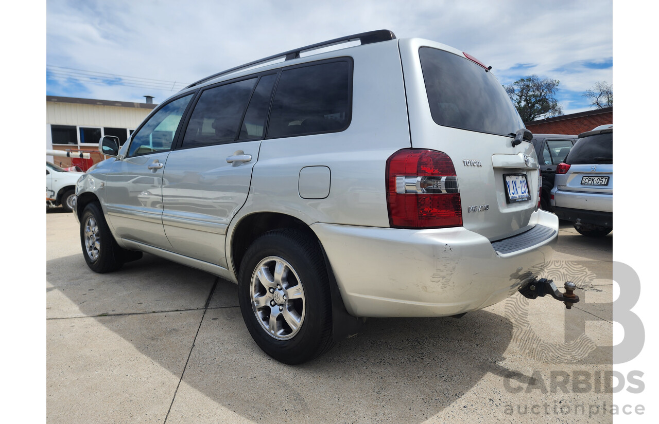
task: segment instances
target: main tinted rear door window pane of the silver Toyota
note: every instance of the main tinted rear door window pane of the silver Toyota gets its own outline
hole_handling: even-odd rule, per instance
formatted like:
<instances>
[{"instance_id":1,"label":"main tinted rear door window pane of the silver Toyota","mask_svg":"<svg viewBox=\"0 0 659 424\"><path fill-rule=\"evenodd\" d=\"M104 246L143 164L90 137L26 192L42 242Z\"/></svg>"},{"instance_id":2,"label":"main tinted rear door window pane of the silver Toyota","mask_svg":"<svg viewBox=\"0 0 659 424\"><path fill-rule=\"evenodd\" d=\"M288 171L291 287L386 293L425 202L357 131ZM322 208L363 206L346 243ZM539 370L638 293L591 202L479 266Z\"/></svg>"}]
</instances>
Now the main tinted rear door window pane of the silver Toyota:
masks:
<instances>
[{"instance_id":1,"label":"main tinted rear door window pane of the silver Toyota","mask_svg":"<svg viewBox=\"0 0 659 424\"><path fill-rule=\"evenodd\" d=\"M206 89L194 106L183 147L234 141L256 78Z\"/></svg>"}]
</instances>

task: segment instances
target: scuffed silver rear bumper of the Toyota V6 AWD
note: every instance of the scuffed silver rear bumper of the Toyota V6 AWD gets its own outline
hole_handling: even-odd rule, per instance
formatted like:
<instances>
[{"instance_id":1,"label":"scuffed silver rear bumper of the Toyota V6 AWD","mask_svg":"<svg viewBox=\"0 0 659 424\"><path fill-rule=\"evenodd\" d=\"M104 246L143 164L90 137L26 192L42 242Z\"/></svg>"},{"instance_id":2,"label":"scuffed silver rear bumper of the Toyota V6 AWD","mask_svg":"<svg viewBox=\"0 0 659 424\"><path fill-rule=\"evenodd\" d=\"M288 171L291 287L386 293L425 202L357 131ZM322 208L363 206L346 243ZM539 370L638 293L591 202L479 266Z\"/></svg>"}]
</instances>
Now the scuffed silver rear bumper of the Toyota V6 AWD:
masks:
<instances>
[{"instance_id":1,"label":"scuffed silver rear bumper of the Toyota V6 AWD","mask_svg":"<svg viewBox=\"0 0 659 424\"><path fill-rule=\"evenodd\" d=\"M411 230L318 223L311 228L326 250L350 314L429 317L485 308L542 273L554 253L558 218L542 210L533 218L549 232L538 243L518 243L507 253L464 227ZM528 239L528 233L520 239Z\"/></svg>"}]
</instances>

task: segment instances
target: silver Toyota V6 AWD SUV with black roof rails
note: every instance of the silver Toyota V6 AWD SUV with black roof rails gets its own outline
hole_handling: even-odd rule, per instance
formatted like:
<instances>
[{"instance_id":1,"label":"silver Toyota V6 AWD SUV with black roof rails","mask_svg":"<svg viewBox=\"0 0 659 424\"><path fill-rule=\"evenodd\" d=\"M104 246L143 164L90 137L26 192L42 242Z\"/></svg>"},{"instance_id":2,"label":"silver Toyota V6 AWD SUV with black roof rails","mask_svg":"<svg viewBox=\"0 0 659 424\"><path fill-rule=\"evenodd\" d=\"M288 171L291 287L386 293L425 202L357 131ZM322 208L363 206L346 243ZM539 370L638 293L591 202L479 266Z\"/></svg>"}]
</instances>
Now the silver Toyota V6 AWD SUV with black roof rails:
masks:
<instances>
[{"instance_id":1,"label":"silver Toyota V6 AWD SUV with black roof rails","mask_svg":"<svg viewBox=\"0 0 659 424\"><path fill-rule=\"evenodd\" d=\"M104 137L76 189L84 258L233 281L254 341L298 364L363 318L460 316L529 285L558 235L531 137L446 45L381 30L287 51L186 87L121 148Z\"/></svg>"}]
</instances>

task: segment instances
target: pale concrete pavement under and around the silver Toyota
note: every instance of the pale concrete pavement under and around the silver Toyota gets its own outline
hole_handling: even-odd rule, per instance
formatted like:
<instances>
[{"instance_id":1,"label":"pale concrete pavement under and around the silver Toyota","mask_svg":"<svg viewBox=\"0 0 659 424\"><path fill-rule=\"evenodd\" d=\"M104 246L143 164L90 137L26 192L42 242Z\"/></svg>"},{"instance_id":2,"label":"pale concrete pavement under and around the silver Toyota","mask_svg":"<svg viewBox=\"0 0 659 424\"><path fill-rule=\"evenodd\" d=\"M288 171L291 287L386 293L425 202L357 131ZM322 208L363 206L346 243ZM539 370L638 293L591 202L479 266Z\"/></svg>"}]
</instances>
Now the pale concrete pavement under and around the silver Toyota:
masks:
<instances>
[{"instance_id":1,"label":"pale concrete pavement under and around the silver Toyota","mask_svg":"<svg viewBox=\"0 0 659 424\"><path fill-rule=\"evenodd\" d=\"M147 254L93 273L74 217L51 210L47 422L610 423L613 238L560 232L550 277L585 288L567 314L516 295L461 319L369 319L290 366L252 341L232 283Z\"/></svg>"}]
</instances>

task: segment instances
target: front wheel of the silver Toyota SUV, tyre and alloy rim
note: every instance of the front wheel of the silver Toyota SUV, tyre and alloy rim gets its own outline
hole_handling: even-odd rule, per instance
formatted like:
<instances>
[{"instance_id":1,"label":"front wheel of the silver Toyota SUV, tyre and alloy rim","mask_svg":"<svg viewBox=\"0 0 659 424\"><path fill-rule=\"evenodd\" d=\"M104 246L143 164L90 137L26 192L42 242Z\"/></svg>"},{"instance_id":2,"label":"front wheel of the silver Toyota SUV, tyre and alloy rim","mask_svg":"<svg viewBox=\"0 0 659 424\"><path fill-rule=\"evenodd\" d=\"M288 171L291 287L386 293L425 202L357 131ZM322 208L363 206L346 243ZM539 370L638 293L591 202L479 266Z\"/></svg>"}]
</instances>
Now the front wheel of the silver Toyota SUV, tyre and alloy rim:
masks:
<instances>
[{"instance_id":1,"label":"front wheel of the silver Toyota SUV, tyre and alloy rim","mask_svg":"<svg viewBox=\"0 0 659 424\"><path fill-rule=\"evenodd\" d=\"M94 272L116 271L124 264L123 249L110 233L103 210L96 202L88 204L82 211L80 244L84 260Z\"/></svg>"}]
</instances>

